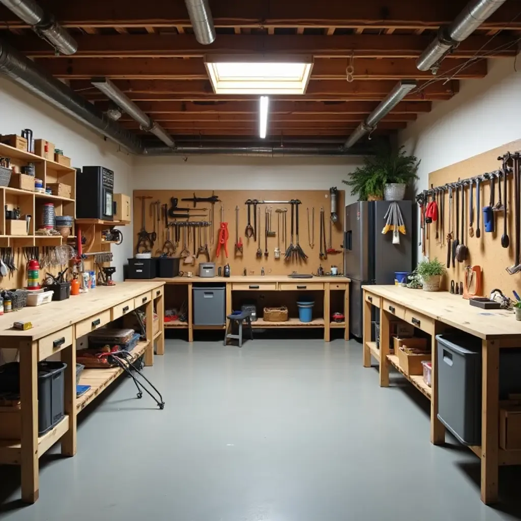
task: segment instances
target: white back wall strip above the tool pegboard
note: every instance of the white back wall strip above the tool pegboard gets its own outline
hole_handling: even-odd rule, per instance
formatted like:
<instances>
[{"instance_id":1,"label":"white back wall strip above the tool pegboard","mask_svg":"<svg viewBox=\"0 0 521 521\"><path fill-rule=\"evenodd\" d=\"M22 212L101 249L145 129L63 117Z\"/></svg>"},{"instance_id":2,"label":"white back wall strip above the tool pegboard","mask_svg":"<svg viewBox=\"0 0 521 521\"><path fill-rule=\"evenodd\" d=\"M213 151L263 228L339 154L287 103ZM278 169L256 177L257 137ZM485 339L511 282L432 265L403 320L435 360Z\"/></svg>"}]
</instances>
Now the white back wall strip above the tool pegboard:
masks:
<instances>
[{"instance_id":1,"label":"white back wall strip above the tool pegboard","mask_svg":"<svg viewBox=\"0 0 521 521\"><path fill-rule=\"evenodd\" d=\"M137 157L134 190L326 190L346 188L359 157ZM346 202L356 201L347 190Z\"/></svg>"}]
</instances>

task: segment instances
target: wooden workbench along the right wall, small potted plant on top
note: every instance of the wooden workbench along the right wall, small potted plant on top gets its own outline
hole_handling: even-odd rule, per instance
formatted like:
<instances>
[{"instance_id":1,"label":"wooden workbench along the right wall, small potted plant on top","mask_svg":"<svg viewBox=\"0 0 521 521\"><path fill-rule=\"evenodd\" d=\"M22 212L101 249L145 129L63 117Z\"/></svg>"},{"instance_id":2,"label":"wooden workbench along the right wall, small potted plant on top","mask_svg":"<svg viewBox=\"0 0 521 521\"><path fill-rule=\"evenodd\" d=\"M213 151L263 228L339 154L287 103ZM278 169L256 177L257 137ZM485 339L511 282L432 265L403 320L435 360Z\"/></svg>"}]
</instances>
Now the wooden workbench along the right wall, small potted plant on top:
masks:
<instances>
[{"instance_id":1,"label":"wooden workbench along the right wall, small potted plant on top","mask_svg":"<svg viewBox=\"0 0 521 521\"><path fill-rule=\"evenodd\" d=\"M481 446L470 449L481 458L481 500L498 500L498 468L521 464L521 451L499 448L499 352L521 346L521 322L512 312L481 309L448 292L425 292L398 286L363 286L364 290L364 367L373 356L379 363L380 386L389 386L389 368L402 372L398 357L389 352L389 321L401 318L431 335L432 387L420 376L406 376L431 400L431 442L445 441L445 428L438 419L437 345L435 336L448 329L458 329L482 341ZM380 349L371 342L371 306L380 308Z\"/></svg>"}]
</instances>

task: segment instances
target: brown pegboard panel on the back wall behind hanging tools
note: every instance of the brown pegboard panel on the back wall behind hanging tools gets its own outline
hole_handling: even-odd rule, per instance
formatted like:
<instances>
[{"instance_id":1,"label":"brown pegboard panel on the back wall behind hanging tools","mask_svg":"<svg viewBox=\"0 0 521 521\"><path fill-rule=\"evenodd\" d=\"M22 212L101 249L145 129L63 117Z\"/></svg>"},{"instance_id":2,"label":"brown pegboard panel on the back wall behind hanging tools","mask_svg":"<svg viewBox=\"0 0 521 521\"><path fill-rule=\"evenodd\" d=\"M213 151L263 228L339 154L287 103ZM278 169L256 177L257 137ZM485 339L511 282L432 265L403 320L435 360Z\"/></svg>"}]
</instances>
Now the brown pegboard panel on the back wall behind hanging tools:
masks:
<instances>
[{"instance_id":1,"label":"brown pegboard panel on the back wall behind hanging tools","mask_svg":"<svg viewBox=\"0 0 521 521\"><path fill-rule=\"evenodd\" d=\"M338 254L330 254L326 261L321 261L319 257L320 252L320 207L324 207L325 210L325 222L326 222L326 238L327 242L329 241L329 217L330 217L330 199L329 199L329 189L324 191L319 190L295 190L295 191L286 191L286 190L261 190L261 191L246 191L246 190L215 190L215 194L219 196L221 202L215 203L215 225L214 225L214 237L213 244L210 243L209 240L209 228L207 229L208 233L208 250L210 252L210 262L215 262L216 266L224 266L226 263L230 264L230 269L232 275L242 275L244 272L244 268L246 268L247 275L260 275L261 269L264 267L265 275L288 275L292 271L297 271L299 273L316 273L319 265L321 264L325 271L329 271L332 265L338 266L339 270L343 270L343 250L342 250L342 242L343 242L343 208L345 201L345 193L343 190L339 190L338 192L338 215L339 220L332 226L332 246L334 249L342 251L342 253ZM177 197L179 199L178 206L179 207L188 207L193 208L193 203L189 201L181 201L183 197L193 197L194 192L190 191L172 191L172 190L135 190L133 193L134 197L134 218L133 218L133 228L134 228L134 252L135 247L138 242L138 232L142 226L142 204L139 199L140 196L148 196L151 199L147 199L145 201L145 222L146 222L146 231L152 232L154 230L153 217L151 213L150 204L153 201L160 201L160 204L168 204L168 208L171 206L170 199L172 197ZM197 190L195 191L195 195L197 197L209 197L212 195L212 191L210 190ZM258 243L254 241L253 237L250 239L245 238L245 228L247 224L247 206L245 201L248 199L257 199L259 201L290 201L292 199L299 199L302 204L299 206L299 244L304 250L304 253L308 256L307 261L284 261L284 251L286 250L284 241L280 241L280 251L281 256L280 259L275 258L275 248L278 246L278 224L277 224L277 216L280 215L281 223L280 229L282 232L282 215L276 212L276 209L284 209L287 208L287 245L290 243L290 235L291 235L291 205L289 204L268 204L268 205L258 205L258 208L261 209L261 249L263 251L263 257L257 258L256 252ZM218 242L218 233L219 233L219 224L220 224L220 208L224 209L224 222L228 222L228 230L230 237L228 239L228 258L226 258L224 249L221 249L219 258L216 258L216 250L217 250L217 242ZM239 207L239 237L242 238L243 242L243 253L235 254L235 207ZM210 203L197 203L195 210L190 212L191 214L199 214L203 213L208 215L208 217L193 217L190 220L192 221L204 221L210 220L209 218L209 210L212 207ZM264 256L265 251L265 210L266 207L268 210L271 208L271 230L276 232L275 237L268 237L268 257ZM201 208L207 208L206 212L199 211ZM315 208L315 222L314 222L314 246L313 248L309 245L308 240L308 226L307 226L307 208L309 208L310 213L310 222L312 220L312 209ZM253 206L251 208L251 224L253 226ZM178 212L183 213L183 212ZM183 221L185 219L178 219L179 221ZM258 220L258 216L257 216ZM169 221L172 222L173 219L169 218ZM154 243L154 247L152 253L154 256L158 255L162 250L162 246L165 242L165 221L163 216L160 216L159 227L157 226L157 221L155 223L157 240ZM258 227L258 224L257 224ZM173 229L171 228L171 237L173 241ZM296 236L294 238L296 242ZM204 242L204 241L203 241ZM199 237L197 237L197 246L199 246ZM177 245L177 251L173 256L179 256L181 250L183 249L182 238L180 243ZM193 240L190 240L190 244L188 249L193 252ZM196 259L195 264L184 264L181 261L180 269L182 271L192 271L194 274L198 273L199 262L206 262L205 256L200 256L199 259Z\"/></svg>"}]
</instances>

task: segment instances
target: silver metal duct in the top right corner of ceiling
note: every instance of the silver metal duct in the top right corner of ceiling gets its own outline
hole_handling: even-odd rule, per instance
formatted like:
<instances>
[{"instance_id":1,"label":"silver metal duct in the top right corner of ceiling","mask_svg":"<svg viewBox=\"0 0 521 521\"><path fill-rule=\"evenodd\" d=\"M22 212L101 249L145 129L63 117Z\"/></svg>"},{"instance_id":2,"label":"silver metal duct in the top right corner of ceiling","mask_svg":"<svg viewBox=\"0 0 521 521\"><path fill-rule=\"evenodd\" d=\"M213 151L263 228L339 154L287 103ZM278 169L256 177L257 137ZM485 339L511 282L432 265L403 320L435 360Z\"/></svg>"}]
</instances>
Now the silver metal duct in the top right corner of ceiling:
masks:
<instances>
[{"instance_id":1,"label":"silver metal duct in the top right corner of ceiling","mask_svg":"<svg viewBox=\"0 0 521 521\"><path fill-rule=\"evenodd\" d=\"M416 60L419 70L436 69L445 55L467 39L505 0L474 0L469 2L449 27L440 28L436 40Z\"/></svg>"}]
</instances>

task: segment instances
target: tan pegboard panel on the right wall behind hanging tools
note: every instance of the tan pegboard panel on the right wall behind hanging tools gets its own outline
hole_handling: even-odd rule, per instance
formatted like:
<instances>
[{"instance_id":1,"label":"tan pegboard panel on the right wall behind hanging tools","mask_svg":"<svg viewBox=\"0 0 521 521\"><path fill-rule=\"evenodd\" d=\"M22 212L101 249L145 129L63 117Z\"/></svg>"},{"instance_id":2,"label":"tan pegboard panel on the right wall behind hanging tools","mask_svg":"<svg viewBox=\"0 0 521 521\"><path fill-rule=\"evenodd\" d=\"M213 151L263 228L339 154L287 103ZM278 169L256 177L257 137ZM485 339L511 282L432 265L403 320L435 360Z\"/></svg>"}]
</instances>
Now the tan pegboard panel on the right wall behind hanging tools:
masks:
<instances>
[{"instance_id":1,"label":"tan pegboard panel on the right wall behind hanging tools","mask_svg":"<svg viewBox=\"0 0 521 521\"><path fill-rule=\"evenodd\" d=\"M485 172L493 170L499 170L502 163L498 161L498 157L502 156L506 152L516 152L521 150L521 140L507 143L506 145L494 148L483 154L465 159L460 163L436 170L429 174L429 188L438 187L445 183L455 182L458 179L467 179L480 175ZM503 192L503 182L501 183ZM512 290L517 292L521 291L521 274L509 275L505 270L507 266L514 264L514 246L515 246L515 233L514 233L514 202L513 197L513 180L512 176L508 177L507 182L507 233L510 239L510 245L508 248L501 246L501 236L503 234L504 217L503 212L495 213L495 227L494 232L485 232L485 226L483 225L483 206L488 206L490 201L490 181L480 183L480 230L481 237L477 238L476 234L474 237L469 237L469 187L465 187L465 235L464 243L468 247L468 257L464 263L458 263L456 266L451 267L447 270L447 274L444 279L445 289L448 289L450 281L455 282L464 281L465 266L480 266L483 271L483 291L485 295L490 294L490 291L499 288L509 297L513 297ZM505 199L504 193L502 193L503 201ZM495 202L498 201L498 180L495 179ZM476 183L474 183L474 230L476 230ZM448 219L449 219L449 194L445 191L444 194L444 210L443 220L445 227L445 235L448 233ZM453 199L453 237L455 234L455 198ZM447 257L447 241L443 238L440 242L435 238L436 227L435 224L430 225L429 241L427 243L427 254L430 258L438 257L440 261L445 265ZM460 189L460 235L461 235L461 189ZM460 237L461 241L461 237Z\"/></svg>"}]
</instances>

